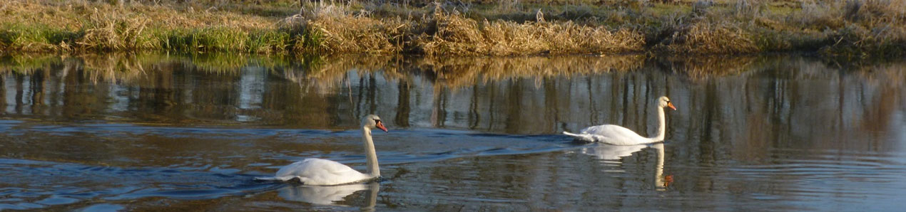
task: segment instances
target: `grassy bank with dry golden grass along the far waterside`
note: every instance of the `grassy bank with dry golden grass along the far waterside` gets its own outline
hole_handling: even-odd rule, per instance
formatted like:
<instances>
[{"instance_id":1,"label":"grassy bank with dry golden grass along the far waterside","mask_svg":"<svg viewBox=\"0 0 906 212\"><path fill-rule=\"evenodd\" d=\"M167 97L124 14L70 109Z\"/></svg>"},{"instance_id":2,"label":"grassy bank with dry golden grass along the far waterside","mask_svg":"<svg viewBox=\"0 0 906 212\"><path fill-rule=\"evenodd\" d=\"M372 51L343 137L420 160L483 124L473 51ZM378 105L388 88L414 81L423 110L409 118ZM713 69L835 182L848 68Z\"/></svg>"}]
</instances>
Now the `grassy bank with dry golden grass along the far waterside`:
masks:
<instances>
[{"instance_id":1,"label":"grassy bank with dry golden grass along the far waterside","mask_svg":"<svg viewBox=\"0 0 906 212\"><path fill-rule=\"evenodd\" d=\"M339 2L6 1L0 51L906 55L896 0Z\"/></svg>"}]
</instances>

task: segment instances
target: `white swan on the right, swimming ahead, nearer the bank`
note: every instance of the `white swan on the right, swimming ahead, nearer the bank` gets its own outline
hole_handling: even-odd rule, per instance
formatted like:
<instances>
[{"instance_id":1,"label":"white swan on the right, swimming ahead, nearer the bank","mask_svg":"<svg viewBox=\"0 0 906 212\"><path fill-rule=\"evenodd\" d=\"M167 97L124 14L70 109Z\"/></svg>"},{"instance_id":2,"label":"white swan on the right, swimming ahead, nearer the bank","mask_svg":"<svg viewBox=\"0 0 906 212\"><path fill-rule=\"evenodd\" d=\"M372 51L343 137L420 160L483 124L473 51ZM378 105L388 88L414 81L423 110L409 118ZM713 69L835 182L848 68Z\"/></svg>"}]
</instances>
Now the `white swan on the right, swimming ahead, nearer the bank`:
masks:
<instances>
[{"instance_id":1,"label":"white swan on the right, swimming ahead, nearer the bank","mask_svg":"<svg viewBox=\"0 0 906 212\"><path fill-rule=\"evenodd\" d=\"M581 134L571 134L565 132L564 134L573 136L576 140L583 142L600 142L600 143L609 143L613 145L638 145L646 143L658 143L664 141L664 133L667 131L667 126L664 121L664 107L670 107L670 109L676 110L676 107L673 107L673 104L670 103L670 98L660 97L658 98L658 120L660 124L658 125L658 136L652 138L642 137L635 132L632 132L626 127L622 127L614 124L604 124L589 126L585 129L582 129Z\"/></svg>"}]
</instances>

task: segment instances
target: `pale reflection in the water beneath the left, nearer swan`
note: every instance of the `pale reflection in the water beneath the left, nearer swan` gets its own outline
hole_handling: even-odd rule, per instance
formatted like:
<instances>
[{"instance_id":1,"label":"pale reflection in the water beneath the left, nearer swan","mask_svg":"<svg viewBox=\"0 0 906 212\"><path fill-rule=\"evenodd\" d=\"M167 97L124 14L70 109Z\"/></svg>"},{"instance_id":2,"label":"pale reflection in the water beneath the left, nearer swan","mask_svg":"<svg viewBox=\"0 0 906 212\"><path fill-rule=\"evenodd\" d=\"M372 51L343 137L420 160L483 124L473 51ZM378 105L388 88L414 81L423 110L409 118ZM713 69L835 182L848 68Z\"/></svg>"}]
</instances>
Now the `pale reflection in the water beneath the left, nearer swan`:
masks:
<instances>
[{"instance_id":1,"label":"pale reflection in the water beneath the left, nearer swan","mask_svg":"<svg viewBox=\"0 0 906 212\"><path fill-rule=\"evenodd\" d=\"M279 189L278 195L286 200L302 201L315 205L346 206L338 202L360 190L368 190L365 196L368 205L362 208L372 210L377 202L378 191L380 190L378 182L339 186L292 185Z\"/></svg>"}]
</instances>

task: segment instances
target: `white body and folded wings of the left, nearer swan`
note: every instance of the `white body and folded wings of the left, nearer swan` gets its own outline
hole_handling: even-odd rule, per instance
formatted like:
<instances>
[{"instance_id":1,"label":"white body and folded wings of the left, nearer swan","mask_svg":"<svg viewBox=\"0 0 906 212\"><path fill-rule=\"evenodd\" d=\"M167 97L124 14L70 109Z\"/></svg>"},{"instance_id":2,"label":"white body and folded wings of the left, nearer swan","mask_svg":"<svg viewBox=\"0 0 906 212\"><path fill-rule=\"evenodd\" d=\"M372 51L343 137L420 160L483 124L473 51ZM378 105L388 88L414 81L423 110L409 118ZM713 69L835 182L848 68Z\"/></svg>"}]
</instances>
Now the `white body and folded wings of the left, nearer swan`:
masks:
<instances>
[{"instance_id":1,"label":"white body and folded wings of the left, nearer swan","mask_svg":"<svg viewBox=\"0 0 906 212\"><path fill-rule=\"evenodd\" d=\"M258 179L283 181L298 179L305 185L338 185L367 180L368 175L352 170L337 161L309 158L280 168L274 178Z\"/></svg>"}]
</instances>

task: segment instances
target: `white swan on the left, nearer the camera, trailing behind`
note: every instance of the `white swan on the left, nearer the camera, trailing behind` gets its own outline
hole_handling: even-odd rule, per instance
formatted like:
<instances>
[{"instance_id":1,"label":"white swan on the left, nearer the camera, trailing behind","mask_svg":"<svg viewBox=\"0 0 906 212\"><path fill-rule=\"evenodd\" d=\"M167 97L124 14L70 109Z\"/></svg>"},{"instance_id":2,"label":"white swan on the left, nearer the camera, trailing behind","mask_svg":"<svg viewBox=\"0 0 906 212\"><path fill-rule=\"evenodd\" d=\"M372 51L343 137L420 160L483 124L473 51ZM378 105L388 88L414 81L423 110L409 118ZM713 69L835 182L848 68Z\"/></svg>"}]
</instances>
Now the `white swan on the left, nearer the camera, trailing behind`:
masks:
<instances>
[{"instance_id":1,"label":"white swan on the left, nearer the camera, trailing behind","mask_svg":"<svg viewBox=\"0 0 906 212\"><path fill-rule=\"evenodd\" d=\"M381 177L378 168L378 155L374 152L374 142L371 141L371 128L387 131L378 115L366 115L361 119L361 140L365 144L365 159L368 172L361 173L337 161L319 158L307 158L280 168L273 178L258 178L258 180L299 180L303 185L342 185L356 182L374 180Z\"/></svg>"}]
</instances>

